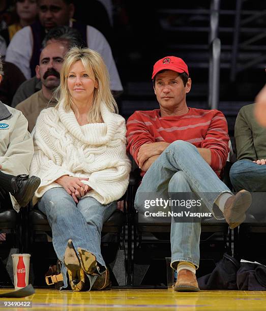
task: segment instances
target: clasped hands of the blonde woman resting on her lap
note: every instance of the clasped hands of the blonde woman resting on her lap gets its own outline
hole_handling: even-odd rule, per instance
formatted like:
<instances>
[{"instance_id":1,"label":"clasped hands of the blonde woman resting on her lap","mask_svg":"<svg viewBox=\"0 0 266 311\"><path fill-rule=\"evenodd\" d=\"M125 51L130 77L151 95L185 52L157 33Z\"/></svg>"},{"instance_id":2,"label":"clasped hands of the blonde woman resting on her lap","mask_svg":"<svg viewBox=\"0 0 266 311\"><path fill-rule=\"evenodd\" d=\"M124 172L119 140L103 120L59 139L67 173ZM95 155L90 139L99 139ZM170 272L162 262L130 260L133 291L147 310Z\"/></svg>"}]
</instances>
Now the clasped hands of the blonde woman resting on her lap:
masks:
<instances>
[{"instance_id":1,"label":"clasped hands of the blonde woman resting on her lap","mask_svg":"<svg viewBox=\"0 0 266 311\"><path fill-rule=\"evenodd\" d=\"M88 178L64 175L57 178L55 182L62 185L66 192L72 196L76 203L78 203L78 199L83 197L88 191L92 190L90 186L84 184L81 180L88 180Z\"/></svg>"}]
</instances>

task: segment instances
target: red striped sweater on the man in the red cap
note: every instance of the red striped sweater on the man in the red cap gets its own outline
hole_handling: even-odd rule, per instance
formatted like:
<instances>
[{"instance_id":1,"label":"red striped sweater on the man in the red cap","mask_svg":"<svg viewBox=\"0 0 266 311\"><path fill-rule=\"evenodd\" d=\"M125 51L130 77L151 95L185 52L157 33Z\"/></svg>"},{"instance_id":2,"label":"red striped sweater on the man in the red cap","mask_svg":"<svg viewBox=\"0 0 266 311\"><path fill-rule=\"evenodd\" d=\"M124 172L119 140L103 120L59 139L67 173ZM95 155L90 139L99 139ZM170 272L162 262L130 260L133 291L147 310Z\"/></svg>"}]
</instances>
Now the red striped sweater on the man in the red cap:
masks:
<instances>
[{"instance_id":1,"label":"red striped sweater on the man in the red cap","mask_svg":"<svg viewBox=\"0 0 266 311\"><path fill-rule=\"evenodd\" d=\"M160 116L160 109L136 111L127 121L127 151L137 161L141 145L175 140L190 142L197 148L211 150L211 167L220 177L229 152L225 116L218 110L190 108L180 116Z\"/></svg>"}]
</instances>

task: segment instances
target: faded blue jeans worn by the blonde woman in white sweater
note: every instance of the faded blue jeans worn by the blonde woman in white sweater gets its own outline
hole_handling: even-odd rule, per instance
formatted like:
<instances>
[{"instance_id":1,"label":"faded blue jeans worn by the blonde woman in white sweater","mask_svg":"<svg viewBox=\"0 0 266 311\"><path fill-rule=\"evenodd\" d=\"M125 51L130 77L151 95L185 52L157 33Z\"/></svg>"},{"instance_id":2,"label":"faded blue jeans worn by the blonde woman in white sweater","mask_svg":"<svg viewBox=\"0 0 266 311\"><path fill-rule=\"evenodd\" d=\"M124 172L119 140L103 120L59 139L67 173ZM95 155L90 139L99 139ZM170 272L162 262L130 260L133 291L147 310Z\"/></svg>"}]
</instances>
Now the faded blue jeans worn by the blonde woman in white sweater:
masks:
<instances>
[{"instance_id":1,"label":"faded blue jeans worn by the blonde woman in white sweater","mask_svg":"<svg viewBox=\"0 0 266 311\"><path fill-rule=\"evenodd\" d=\"M63 263L64 287L67 287L64 255L69 239L72 239L76 251L78 247L90 251L98 263L106 267L101 255L101 231L103 223L116 207L116 202L102 205L91 197L83 198L76 204L63 188L50 189L41 198L38 208L47 216L52 228L53 247L57 258ZM92 287L97 275L88 275L88 278Z\"/></svg>"}]
</instances>

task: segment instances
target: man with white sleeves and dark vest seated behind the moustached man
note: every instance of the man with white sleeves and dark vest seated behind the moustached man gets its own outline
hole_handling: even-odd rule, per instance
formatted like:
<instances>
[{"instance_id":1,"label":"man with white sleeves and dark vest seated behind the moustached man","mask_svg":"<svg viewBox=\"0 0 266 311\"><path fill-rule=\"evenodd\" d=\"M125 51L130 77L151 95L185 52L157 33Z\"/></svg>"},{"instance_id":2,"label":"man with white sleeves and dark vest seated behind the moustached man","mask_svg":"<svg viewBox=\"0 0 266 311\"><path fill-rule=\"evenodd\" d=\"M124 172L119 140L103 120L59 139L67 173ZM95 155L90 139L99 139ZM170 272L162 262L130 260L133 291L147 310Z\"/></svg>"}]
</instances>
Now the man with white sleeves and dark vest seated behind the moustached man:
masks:
<instances>
[{"instance_id":1,"label":"man with white sleeves and dark vest seated behind the moustached man","mask_svg":"<svg viewBox=\"0 0 266 311\"><path fill-rule=\"evenodd\" d=\"M6 60L19 67L27 79L33 77L39 63L45 32L56 26L70 25L80 31L87 46L98 51L103 57L110 75L111 90L122 91L123 87L108 42L96 28L72 20L75 9L72 1L37 0L37 4L40 21L16 33L7 49Z\"/></svg>"}]
</instances>

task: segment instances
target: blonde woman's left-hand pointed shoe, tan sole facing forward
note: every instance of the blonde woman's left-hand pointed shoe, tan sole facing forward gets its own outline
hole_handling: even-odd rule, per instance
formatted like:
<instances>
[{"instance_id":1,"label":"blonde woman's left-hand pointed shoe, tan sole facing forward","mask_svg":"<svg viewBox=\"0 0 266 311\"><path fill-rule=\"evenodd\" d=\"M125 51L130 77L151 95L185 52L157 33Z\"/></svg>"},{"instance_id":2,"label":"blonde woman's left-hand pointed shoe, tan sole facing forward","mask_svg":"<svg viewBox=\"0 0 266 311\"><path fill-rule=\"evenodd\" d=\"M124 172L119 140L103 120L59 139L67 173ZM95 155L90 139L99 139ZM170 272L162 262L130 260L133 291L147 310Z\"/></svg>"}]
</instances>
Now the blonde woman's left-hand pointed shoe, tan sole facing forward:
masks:
<instances>
[{"instance_id":1,"label":"blonde woman's left-hand pointed shoe, tan sole facing forward","mask_svg":"<svg viewBox=\"0 0 266 311\"><path fill-rule=\"evenodd\" d=\"M64 264L67 268L70 287L74 292L84 292L90 289L90 281L81 268L78 255L72 240L68 240L64 256Z\"/></svg>"}]
</instances>

